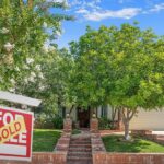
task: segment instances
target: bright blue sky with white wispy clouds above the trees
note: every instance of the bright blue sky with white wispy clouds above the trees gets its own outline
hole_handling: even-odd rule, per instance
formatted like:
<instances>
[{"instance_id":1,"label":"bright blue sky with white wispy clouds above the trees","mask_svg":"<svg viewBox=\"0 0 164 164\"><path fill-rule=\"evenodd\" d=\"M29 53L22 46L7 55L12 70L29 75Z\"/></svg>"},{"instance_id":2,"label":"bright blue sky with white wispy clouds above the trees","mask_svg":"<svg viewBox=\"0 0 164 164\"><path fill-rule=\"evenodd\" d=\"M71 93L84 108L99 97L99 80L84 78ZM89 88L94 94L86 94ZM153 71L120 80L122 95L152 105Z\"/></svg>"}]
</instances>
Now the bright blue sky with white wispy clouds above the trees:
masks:
<instances>
[{"instance_id":1,"label":"bright blue sky with white wispy clouds above the trees","mask_svg":"<svg viewBox=\"0 0 164 164\"><path fill-rule=\"evenodd\" d=\"M152 28L164 35L164 0L55 0L66 1L69 9L65 14L75 16L75 21L62 23L62 34L57 39L59 48L78 40L90 25L97 30L101 25L120 26L138 21L142 30Z\"/></svg>"}]
</instances>

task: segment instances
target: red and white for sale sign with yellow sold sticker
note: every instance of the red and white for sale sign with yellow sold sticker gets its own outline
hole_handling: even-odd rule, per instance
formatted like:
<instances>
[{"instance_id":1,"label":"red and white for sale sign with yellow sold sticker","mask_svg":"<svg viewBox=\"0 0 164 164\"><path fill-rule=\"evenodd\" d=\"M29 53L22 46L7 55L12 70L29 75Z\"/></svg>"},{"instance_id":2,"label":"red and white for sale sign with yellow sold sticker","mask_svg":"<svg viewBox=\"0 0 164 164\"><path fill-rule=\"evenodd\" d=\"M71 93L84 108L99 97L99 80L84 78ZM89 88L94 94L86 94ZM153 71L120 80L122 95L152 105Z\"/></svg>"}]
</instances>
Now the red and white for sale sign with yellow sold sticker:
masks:
<instances>
[{"instance_id":1,"label":"red and white for sale sign with yellow sold sticker","mask_svg":"<svg viewBox=\"0 0 164 164\"><path fill-rule=\"evenodd\" d=\"M0 107L0 159L31 161L33 113Z\"/></svg>"}]
</instances>

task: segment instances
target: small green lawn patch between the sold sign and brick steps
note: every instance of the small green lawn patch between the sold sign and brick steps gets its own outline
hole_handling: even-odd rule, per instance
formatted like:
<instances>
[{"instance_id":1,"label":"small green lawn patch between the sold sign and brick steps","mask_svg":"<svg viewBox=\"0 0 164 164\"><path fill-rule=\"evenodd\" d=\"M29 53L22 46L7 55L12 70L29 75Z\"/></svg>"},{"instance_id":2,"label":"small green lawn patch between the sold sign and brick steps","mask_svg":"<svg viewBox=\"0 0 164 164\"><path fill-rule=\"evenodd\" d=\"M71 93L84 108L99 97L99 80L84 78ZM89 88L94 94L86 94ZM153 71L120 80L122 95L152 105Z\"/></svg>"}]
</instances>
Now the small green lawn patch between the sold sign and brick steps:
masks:
<instances>
[{"instance_id":1,"label":"small green lawn patch between the sold sign and brick steps","mask_svg":"<svg viewBox=\"0 0 164 164\"><path fill-rule=\"evenodd\" d=\"M33 151L51 152L60 134L60 130L35 129L33 136Z\"/></svg>"}]
</instances>

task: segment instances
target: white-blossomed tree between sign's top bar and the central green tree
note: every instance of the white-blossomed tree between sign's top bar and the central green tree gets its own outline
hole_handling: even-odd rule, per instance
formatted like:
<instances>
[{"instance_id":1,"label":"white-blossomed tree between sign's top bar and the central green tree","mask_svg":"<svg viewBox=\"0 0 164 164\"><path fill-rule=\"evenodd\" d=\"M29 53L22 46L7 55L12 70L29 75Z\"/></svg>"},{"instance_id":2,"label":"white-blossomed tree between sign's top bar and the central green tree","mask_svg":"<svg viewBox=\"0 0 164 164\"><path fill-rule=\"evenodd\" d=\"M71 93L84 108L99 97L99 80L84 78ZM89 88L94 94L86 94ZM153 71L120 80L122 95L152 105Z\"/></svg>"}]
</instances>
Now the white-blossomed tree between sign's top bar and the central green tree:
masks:
<instances>
[{"instance_id":1,"label":"white-blossomed tree between sign's top bar and the central green tree","mask_svg":"<svg viewBox=\"0 0 164 164\"><path fill-rule=\"evenodd\" d=\"M72 59L67 49L59 50L50 46L43 49L42 54L36 54L35 62L35 71L25 81L17 82L16 90L19 93L40 98L40 114L54 119L63 107L71 106L68 80L73 66Z\"/></svg>"}]
</instances>

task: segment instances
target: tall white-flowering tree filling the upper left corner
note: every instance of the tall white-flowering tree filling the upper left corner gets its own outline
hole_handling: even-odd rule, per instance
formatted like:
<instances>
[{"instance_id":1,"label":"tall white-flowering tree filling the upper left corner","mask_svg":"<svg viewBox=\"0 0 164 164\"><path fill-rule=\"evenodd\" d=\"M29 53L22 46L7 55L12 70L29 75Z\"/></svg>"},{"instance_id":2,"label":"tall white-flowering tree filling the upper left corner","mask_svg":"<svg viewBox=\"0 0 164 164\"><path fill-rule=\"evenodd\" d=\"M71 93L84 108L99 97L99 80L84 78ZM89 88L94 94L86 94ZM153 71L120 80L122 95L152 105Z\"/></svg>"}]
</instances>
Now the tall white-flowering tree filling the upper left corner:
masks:
<instances>
[{"instance_id":1,"label":"tall white-flowering tree filling the upper left corner","mask_svg":"<svg viewBox=\"0 0 164 164\"><path fill-rule=\"evenodd\" d=\"M34 74L36 54L42 52L46 42L54 43L61 33L61 21L73 19L49 12L49 9L56 11L57 8L65 9L66 3L0 1L0 90L15 89L19 81Z\"/></svg>"}]
</instances>

